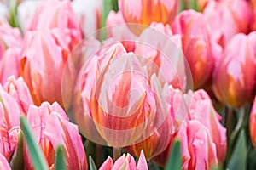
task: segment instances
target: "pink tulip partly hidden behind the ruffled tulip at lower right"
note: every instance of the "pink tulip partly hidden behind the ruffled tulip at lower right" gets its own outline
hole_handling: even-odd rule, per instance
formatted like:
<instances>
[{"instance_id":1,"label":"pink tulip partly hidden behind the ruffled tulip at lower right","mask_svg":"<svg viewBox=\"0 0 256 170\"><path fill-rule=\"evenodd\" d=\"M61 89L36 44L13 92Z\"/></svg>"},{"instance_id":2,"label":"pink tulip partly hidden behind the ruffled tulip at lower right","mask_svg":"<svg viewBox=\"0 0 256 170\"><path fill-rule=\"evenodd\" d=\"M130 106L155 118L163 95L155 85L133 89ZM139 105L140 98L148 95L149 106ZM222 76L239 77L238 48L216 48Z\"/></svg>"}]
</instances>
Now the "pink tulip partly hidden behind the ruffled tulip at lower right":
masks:
<instances>
[{"instance_id":1,"label":"pink tulip partly hidden behind the ruffled tulip at lower right","mask_svg":"<svg viewBox=\"0 0 256 170\"><path fill-rule=\"evenodd\" d=\"M218 160L224 162L227 150L226 129L220 124L221 116L214 110L212 99L204 90L194 92L188 119L197 120L207 127L216 145Z\"/></svg>"}]
</instances>

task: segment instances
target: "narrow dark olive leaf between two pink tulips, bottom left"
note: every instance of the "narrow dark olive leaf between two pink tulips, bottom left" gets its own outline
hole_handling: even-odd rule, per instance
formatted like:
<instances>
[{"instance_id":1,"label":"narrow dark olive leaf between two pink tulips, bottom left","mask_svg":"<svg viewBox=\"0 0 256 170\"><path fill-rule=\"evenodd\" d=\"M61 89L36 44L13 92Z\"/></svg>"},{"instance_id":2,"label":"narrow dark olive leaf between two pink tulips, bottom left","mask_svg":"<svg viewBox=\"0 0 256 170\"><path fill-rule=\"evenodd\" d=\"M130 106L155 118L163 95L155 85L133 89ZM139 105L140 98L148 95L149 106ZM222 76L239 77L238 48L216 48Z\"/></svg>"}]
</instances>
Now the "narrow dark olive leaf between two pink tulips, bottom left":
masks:
<instances>
[{"instance_id":1,"label":"narrow dark olive leaf between two pink tulips, bottom left","mask_svg":"<svg viewBox=\"0 0 256 170\"><path fill-rule=\"evenodd\" d=\"M20 131L18 134L18 144L15 150L15 154L12 157L12 160L10 161L10 167L15 169L20 169L20 167L24 167L24 156L23 156L23 136Z\"/></svg>"}]
</instances>

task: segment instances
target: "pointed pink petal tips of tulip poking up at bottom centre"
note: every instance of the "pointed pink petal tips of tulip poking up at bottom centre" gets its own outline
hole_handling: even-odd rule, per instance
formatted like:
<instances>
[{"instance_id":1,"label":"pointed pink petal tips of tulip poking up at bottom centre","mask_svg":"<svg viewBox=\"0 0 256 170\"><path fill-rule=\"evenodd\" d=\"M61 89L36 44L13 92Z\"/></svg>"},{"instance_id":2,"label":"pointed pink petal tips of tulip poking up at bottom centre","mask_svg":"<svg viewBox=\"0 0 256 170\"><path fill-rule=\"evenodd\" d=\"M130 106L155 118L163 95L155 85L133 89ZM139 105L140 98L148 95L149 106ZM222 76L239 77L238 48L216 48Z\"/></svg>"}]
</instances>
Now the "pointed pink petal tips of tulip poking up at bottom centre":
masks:
<instances>
[{"instance_id":1,"label":"pointed pink petal tips of tulip poking up at bottom centre","mask_svg":"<svg viewBox=\"0 0 256 170\"><path fill-rule=\"evenodd\" d=\"M145 160L143 150L141 151L140 157L138 159L137 165L134 158L128 153L127 156L125 154L117 161L114 162L111 157L108 157L106 161L102 164L99 170L118 170L118 169L137 169L137 170L147 170L148 165Z\"/></svg>"}]
</instances>

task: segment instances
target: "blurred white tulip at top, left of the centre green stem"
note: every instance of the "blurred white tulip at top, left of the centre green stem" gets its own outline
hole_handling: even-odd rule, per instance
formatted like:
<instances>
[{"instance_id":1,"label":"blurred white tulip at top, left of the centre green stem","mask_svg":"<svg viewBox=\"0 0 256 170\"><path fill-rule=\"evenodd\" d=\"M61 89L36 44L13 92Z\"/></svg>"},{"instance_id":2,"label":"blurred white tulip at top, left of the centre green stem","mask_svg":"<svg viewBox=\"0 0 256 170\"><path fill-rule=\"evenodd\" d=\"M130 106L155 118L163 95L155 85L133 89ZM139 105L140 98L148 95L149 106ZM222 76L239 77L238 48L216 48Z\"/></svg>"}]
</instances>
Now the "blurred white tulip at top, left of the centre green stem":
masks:
<instances>
[{"instance_id":1,"label":"blurred white tulip at top, left of the centre green stem","mask_svg":"<svg viewBox=\"0 0 256 170\"><path fill-rule=\"evenodd\" d=\"M101 27L102 1L101 0L74 0L72 2L73 12L79 19L79 24L85 36L90 36ZM86 8L86 10L84 10ZM99 36L99 35L96 35Z\"/></svg>"}]
</instances>

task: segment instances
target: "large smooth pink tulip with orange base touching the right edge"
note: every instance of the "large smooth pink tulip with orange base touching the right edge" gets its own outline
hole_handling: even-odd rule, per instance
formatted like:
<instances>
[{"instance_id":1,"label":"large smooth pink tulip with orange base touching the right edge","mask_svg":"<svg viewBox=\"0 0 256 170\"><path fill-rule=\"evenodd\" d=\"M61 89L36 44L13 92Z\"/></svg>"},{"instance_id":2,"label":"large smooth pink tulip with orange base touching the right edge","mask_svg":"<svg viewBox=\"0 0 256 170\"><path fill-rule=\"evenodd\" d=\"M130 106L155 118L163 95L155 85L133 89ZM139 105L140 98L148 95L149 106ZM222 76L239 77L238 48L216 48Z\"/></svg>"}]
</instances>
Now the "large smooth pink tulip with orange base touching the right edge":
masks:
<instances>
[{"instance_id":1,"label":"large smooth pink tulip with orange base touching the right edge","mask_svg":"<svg viewBox=\"0 0 256 170\"><path fill-rule=\"evenodd\" d=\"M255 85L253 47L247 36L237 34L224 48L224 58L213 77L213 92L225 105L240 107L253 99Z\"/></svg>"}]
</instances>

